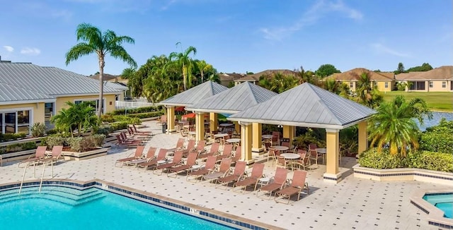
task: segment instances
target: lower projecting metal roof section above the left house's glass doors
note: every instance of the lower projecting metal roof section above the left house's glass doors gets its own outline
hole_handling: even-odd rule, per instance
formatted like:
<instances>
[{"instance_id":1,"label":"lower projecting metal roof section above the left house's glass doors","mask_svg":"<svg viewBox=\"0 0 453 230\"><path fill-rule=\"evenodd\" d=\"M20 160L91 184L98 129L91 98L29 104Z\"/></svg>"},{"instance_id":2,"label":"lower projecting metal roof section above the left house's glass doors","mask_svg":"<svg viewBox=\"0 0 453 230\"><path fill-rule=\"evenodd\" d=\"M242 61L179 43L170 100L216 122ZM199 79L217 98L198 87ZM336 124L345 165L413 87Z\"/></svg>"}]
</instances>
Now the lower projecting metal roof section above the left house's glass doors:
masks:
<instances>
[{"instance_id":1,"label":"lower projecting metal roof section above the left house's glass doors","mask_svg":"<svg viewBox=\"0 0 453 230\"><path fill-rule=\"evenodd\" d=\"M55 98L33 90L25 90L14 85L0 83L0 102L2 104L23 102L55 101Z\"/></svg>"}]
</instances>

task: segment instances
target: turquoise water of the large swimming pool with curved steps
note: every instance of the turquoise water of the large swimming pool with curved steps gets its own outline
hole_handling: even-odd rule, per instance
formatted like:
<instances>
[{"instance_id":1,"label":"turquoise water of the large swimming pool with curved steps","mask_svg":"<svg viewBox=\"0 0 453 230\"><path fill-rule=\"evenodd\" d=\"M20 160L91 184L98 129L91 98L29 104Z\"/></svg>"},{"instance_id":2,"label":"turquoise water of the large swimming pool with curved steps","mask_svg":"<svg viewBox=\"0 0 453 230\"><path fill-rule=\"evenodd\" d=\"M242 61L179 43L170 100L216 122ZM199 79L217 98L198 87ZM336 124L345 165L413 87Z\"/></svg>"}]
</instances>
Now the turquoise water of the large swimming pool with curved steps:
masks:
<instances>
[{"instance_id":1,"label":"turquoise water of the large swimming pool with curved steps","mask_svg":"<svg viewBox=\"0 0 453 230\"><path fill-rule=\"evenodd\" d=\"M231 229L98 188L0 192L1 229Z\"/></svg>"}]
</instances>

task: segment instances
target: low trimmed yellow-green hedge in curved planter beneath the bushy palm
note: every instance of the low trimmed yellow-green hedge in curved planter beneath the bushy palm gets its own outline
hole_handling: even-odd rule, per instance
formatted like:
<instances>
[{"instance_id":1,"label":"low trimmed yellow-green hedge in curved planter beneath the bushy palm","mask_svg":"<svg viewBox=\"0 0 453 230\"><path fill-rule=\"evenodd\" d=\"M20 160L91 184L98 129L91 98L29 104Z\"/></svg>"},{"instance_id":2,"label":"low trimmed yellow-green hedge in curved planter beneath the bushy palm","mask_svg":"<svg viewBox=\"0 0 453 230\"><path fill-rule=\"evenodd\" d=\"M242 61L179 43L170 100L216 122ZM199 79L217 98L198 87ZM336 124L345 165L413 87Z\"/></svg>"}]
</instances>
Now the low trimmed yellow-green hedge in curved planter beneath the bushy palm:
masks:
<instances>
[{"instance_id":1,"label":"low trimmed yellow-green hedge in curved planter beneath the bushy palm","mask_svg":"<svg viewBox=\"0 0 453 230\"><path fill-rule=\"evenodd\" d=\"M360 155L359 164L372 169L417 168L453 172L453 155L443 152L410 152L406 158L391 155L388 150L369 149Z\"/></svg>"}]
</instances>

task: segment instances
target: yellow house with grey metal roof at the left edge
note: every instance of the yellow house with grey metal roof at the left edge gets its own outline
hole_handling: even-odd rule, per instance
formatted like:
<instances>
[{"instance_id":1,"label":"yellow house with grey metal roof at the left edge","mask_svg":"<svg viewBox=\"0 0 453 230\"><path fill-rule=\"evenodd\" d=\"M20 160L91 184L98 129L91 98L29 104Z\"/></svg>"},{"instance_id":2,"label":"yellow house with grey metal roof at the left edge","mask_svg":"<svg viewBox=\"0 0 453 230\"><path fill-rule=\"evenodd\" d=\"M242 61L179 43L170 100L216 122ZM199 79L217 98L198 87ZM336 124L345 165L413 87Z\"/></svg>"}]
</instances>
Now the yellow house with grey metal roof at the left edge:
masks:
<instances>
[{"instance_id":1,"label":"yellow house with grey metal roof at the left edge","mask_svg":"<svg viewBox=\"0 0 453 230\"><path fill-rule=\"evenodd\" d=\"M103 112L115 109L124 86L105 83ZM0 133L30 133L33 123L46 123L66 102L92 101L96 109L99 81L61 68L33 63L0 63Z\"/></svg>"}]
</instances>

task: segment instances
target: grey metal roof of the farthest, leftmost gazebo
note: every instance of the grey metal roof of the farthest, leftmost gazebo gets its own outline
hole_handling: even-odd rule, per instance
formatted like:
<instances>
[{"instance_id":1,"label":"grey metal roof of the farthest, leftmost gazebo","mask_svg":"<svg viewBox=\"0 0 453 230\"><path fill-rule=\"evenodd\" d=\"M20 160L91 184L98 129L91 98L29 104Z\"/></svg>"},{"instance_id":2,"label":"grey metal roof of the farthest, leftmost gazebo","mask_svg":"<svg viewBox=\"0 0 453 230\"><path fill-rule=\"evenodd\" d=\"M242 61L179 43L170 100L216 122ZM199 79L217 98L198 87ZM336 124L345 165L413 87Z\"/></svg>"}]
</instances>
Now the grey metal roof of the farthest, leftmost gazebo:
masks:
<instances>
[{"instance_id":1,"label":"grey metal roof of the farthest, leftmost gazebo","mask_svg":"<svg viewBox=\"0 0 453 230\"><path fill-rule=\"evenodd\" d=\"M200 102L202 99L217 95L224 90L228 90L228 88L208 80L205 83L192 87L184 92L180 92L173 97L168 97L159 102L159 104L186 107Z\"/></svg>"}]
</instances>

